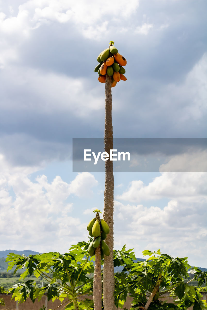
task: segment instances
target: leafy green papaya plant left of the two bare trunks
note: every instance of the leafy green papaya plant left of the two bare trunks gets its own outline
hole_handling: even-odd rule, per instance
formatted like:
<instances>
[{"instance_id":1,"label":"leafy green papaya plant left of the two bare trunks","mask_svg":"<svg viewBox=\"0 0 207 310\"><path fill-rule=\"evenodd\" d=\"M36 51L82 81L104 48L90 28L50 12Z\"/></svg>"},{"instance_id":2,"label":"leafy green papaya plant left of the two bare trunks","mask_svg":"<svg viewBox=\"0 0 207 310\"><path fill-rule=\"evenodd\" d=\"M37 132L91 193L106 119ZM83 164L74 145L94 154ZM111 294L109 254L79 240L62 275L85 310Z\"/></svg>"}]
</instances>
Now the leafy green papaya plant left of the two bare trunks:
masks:
<instances>
[{"instance_id":1,"label":"leafy green papaya plant left of the two bare trunks","mask_svg":"<svg viewBox=\"0 0 207 310\"><path fill-rule=\"evenodd\" d=\"M88 254L89 243L83 241L72 246L68 253L49 252L39 255L7 255L8 271L15 267L17 270L24 268L20 276L23 283L17 283L8 292L12 293L12 299L23 303L30 298L40 300L47 293L48 301L59 299L62 303L59 310L88 310L94 309L93 300L83 296L93 294L93 279L89 276L94 272L93 262L90 262ZM46 281L46 285L38 287L30 276ZM25 281L26 279L26 281Z\"/></svg>"}]
</instances>

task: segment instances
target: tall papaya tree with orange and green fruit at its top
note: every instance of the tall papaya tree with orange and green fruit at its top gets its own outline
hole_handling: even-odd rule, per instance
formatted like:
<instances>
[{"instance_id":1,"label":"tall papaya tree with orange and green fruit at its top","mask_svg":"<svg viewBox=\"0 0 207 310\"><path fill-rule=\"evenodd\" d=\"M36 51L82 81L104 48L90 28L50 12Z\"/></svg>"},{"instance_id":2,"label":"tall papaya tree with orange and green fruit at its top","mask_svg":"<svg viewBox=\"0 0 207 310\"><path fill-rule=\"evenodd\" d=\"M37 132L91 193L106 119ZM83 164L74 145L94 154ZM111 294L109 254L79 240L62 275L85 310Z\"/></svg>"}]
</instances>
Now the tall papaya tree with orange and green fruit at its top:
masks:
<instances>
[{"instance_id":1,"label":"tall papaya tree with orange and green fruit at its top","mask_svg":"<svg viewBox=\"0 0 207 310\"><path fill-rule=\"evenodd\" d=\"M110 41L109 48L99 54L97 60L99 64L95 72L99 73L99 82L105 82L105 132L104 149L110 154L113 149L113 126L112 126L112 92L111 88L116 86L117 82L126 80L123 73L125 69L122 66L127 64L126 59L118 53L114 42ZM107 235L110 255L104 258L103 272L103 302L104 310L114 310L114 268L113 268L113 161L105 161L105 190L104 190L104 213L103 217L109 226L110 232Z\"/></svg>"}]
</instances>

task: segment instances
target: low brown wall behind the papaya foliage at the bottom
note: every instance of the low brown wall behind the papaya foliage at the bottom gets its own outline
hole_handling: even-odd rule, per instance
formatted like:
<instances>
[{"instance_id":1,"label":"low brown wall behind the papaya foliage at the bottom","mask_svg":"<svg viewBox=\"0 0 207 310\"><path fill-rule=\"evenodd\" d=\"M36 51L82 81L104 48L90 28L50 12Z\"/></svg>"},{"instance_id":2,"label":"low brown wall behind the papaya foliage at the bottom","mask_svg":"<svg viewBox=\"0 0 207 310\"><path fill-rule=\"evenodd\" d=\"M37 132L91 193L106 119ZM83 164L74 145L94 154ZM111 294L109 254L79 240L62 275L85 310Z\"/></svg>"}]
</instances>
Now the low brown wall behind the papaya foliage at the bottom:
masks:
<instances>
[{"instance_id":1,"label":"low brown wall behind the papaya foliage at the bottom","mask_svg":"<svg viewBox=\"0 0 207 310\"><path fill-rule=\"evenodd\" d=\"M201 294L203 295L203 299L207 301L207 292L201 292ZM6 293L0 294L0 298L3 298L5 302L5 306L2 307L0 306L1 310L39 310L41 307L43 307L43 305L46 306L46 310L48 310L48 309L54 309L61 305L60 301L58 300L55 300L54 303L52 302L52 300L47 301L47 295L44 295L39 302L37 299L35 300L34 303L30 299L27 299L24 303L19 303L18 305L17 302L11 300L11 296L12 294L8 295ZM162 298L162 300L167 300L169 303L173 303L173 298L169 297L168 293L163 294L162 296L165 297ZM87 298L92 298L92 296L90 297L88 296ZM125 303L123 308L130 309L131 300L132 299L130 297L127 297L127 302ZM59 309L61 308L62 307L60 307ZM191 309L192 307L189 308L189 310Z\"/></svg>"}]
</instances>

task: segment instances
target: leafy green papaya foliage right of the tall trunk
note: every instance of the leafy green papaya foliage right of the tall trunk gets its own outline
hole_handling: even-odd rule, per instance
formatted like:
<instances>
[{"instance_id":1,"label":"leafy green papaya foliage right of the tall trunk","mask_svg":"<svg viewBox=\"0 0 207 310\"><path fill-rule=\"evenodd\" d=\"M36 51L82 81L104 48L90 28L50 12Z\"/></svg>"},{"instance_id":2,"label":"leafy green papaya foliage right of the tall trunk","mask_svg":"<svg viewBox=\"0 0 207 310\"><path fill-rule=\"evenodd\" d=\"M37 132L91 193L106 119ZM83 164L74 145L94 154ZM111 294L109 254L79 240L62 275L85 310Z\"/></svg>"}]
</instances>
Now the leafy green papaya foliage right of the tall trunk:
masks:
<instances>
[{"instance_id":1,"label":"leafy green papaya foliage right of the tall trunk","mask_svg":"<svg viewBox=\"0 0 207 310\"><path fill-rule=\"evenodd\" d=\"M201 300L202 294L190 283L196 280L198 287L205 285L206 290L207 272L196 267L192 269L187 257L173 258L161 254L160 250L145 250L143 255L149 257L143 262L134 262L135 255L132 250L126 251L124 246L121 251L114 251L114 266L123 266L122 271L115 274L117 307L122 308L127 296L131 296L132 309L186 310L191 306L193 310L207 309L206 301ZM189 281L188 272L194 275ZM163 301L163 298L166 298L163 295L167 292L175 298L174 303Z\"/></svg>"}]
</instances>

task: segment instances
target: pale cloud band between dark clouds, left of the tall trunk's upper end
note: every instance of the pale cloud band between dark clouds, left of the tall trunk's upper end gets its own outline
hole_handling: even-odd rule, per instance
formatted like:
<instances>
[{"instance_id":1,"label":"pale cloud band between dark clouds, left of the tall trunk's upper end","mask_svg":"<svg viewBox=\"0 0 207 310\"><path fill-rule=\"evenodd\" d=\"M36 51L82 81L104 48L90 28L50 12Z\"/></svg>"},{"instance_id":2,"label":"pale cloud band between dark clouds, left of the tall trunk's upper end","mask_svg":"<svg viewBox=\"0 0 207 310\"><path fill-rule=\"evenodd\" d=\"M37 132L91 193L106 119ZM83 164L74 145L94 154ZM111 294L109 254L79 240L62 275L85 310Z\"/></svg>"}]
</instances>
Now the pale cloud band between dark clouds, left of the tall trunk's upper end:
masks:
<instances>
[{"instance_id":1,"label":"pale cloud band between dark clouds, left of the tall trunk's upper end","mask_svg":"<svg viewBox=\"0 0 207 310\"><path fill-rule=\"evenodd\" d=\"M5 85L2 88L2 96L7 100L7 109L23 109L24 113L39 111L48 115L57 111L71 112L76 117L85 117L91 110L97 111L103 108L99 87L98 89L89 87L87 78L74 78L16 66L8 66L2 70L0 77L1 75ZM10 89L16 100L19 100L18 104L16 100L8 98ZM24 92L23 100L21 92ZM5 108L5 101L1 101L0 105Z\"/></svg>"}]
</instances>

